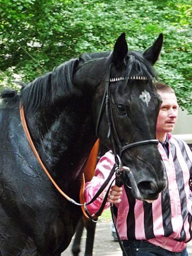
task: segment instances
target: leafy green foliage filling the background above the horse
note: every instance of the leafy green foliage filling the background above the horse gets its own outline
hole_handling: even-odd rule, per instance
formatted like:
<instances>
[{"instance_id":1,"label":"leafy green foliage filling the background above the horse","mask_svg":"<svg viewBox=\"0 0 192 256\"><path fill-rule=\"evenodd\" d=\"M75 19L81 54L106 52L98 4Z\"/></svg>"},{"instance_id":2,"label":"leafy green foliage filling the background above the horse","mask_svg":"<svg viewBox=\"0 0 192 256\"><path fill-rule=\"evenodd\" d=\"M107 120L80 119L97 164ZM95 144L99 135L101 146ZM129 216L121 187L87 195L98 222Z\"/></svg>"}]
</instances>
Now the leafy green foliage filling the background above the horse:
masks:
<instances>
[{"instance_id":1,"label":"leafy green foliage filling the background above the horse","mask_svg":"<svg viewBox=\"0 0 192 256\"><path fill-rule=\"evenodd\" d=\"M83 52L113 50L124 31L130 50L164 34L161 81L192 113L191 11L188 0L0 0L0 83L29 82Z\"/></svg>"}]
</instances>

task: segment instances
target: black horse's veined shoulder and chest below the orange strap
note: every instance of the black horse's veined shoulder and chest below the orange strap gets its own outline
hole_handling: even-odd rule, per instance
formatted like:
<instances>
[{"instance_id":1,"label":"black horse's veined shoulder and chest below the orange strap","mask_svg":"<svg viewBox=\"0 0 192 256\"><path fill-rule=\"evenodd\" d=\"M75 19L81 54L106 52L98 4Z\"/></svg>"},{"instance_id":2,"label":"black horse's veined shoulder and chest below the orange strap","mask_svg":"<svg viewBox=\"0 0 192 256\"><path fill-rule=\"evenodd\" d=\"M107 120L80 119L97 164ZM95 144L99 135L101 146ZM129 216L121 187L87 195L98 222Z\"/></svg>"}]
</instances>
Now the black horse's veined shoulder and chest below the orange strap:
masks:
<instances>
[{"instance_id":1,"label":"black horse's veined shoulder and chest below the orange strap","mask_svg":"<svg viewBox=\"0 0 192 256\"><path fill-rule=\"evenodd\" d=\"M19 255L26 255L24 252L31 250L35 252L31 255L36 256L65 250L81 209L66 202L53 187L23 137L19 123L14 133L5 131L1 142L0 218L4 221L0 244L6 252L2 255L12 250L10 255L19 251ZM11 249L9 244L18 247Z\"/></svg>"}]
</instances>

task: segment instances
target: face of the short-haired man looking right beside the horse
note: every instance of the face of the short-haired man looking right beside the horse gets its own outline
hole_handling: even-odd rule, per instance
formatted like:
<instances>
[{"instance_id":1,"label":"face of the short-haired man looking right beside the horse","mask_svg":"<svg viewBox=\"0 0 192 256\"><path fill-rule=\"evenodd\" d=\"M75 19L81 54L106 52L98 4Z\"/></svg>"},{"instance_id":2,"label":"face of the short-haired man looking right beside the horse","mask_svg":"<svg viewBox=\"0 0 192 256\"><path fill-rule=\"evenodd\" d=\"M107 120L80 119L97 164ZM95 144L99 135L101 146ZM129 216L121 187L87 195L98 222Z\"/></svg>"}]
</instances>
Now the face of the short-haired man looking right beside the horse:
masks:
<instances>
[{"instance_id":1,"label":"face of the short-haired man looking right beside the horse","mask_svg":"<svg viewBox=\"0 0 192 256\"><path fill-rule=\"evenodd\" d=\"M163 102L157 118L156 132L172 132L178 116L177 98L174 93L158 91L158 94L161 95Z\"/></svg>"}]
</instances>

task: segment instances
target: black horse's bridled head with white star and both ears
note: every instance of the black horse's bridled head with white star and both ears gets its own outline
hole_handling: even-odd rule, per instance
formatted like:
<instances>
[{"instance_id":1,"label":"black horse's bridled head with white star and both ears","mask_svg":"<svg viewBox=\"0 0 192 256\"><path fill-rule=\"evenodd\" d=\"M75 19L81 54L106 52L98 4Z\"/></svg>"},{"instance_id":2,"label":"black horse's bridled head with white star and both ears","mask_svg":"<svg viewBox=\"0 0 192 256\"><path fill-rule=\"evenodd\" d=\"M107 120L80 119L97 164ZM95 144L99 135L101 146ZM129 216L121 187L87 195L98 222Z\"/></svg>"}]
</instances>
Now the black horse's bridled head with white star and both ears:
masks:
<instances>
[{"instance_id":1,"label":"black horse's bridled head with white star and both ears","mask_svg":"<svg viewBox=\"0 0 192 256\"><path fill-rule=\"evenodd\" d=\"M161 99L155 89L153 65L163 44L160 34L144 53L128 51L123 33L113 52L84 54L74 73L74 83L92 98L95 133L113 150L127 170L123 183L135 198L154 200L166 186L164 165L158 152L156 122Z\"/></svg>"}]
</instances>

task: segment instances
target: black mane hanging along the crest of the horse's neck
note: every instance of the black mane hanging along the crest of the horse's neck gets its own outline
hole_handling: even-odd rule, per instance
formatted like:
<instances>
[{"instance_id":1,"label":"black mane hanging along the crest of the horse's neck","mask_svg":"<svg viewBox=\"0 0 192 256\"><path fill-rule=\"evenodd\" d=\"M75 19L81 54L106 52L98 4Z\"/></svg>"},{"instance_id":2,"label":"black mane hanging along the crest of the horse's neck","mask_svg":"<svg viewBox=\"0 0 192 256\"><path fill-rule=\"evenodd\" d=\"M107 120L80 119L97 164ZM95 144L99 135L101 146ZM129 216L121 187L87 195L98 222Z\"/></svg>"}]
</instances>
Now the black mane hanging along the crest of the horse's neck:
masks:
<instances>
[{"instance_id":1,"label":"black mane hanging along the crest of the horse's neck","mask_svg":"<svg viewBox=\"0 0 192 256\"><path fill-rule=\"evenodd\" d=\"M60 99L70 98L78 91L73 84L73 73L77 59L62 63L52 72L36 78L21 89L21 104L25 110L48 106Z\"/></svg>"}]
</instances>

